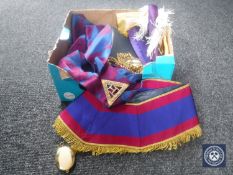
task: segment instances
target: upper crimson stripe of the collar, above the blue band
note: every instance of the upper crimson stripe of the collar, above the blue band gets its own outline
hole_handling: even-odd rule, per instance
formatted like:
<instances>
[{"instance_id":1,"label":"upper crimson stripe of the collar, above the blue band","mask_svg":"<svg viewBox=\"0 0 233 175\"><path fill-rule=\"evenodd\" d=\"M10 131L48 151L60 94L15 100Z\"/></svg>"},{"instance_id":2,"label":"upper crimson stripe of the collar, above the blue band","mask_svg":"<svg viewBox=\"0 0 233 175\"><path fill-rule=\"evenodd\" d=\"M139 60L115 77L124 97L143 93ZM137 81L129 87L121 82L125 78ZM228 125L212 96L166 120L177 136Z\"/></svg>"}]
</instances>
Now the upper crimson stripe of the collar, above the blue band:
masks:
<instances>
[{"instance_id":1,"label":"upper crimson stripe of the collar, above the blue band","mask_svg":"<svg viewBox=\"0 0 233 175\"><path fill-rule=\"evenodd\" d=\"M128 114L142 114L147 111L151 111L157 108L160 108L162 106L165 106L169 103L178 101L184 97L187 97L191 94L191 89L189 86L177 90L175 92L172 92L170 94L167 94L165 96L161 96L159 98L156 98L154 100L148 101L146 103L143 103L141 105L135 106L135 105L118 105L114 106L111 109L104 108L103 105L88 91L85 91L83 93L83 97L91 103L92 106L96 108L96 110L100 112L121 112L121 113L128 113ZM137 108L137 110L136 110Z\"/></svg>"}]
</instances>

